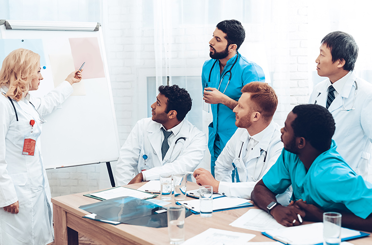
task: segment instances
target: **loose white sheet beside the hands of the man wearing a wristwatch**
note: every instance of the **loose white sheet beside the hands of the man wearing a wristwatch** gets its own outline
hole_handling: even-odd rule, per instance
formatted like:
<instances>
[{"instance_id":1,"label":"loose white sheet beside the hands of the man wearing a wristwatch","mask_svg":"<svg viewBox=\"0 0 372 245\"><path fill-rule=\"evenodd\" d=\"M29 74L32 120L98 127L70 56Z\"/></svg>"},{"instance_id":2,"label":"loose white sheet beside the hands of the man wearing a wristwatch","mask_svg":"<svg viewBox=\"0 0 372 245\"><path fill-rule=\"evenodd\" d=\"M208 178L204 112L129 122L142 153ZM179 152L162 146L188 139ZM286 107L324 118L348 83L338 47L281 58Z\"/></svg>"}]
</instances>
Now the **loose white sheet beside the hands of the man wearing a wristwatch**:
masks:
<instances>
[{"instance_id":1,"label":"loose white sheet beside the hands of the man wearing a wristwatch","mask_svg":"<svg viewBox=\"0 0 372 245\"><path fill-rule=\"evenodd\" d=\"M214 201L214 200L213 200ZM230 224L233 227L257 231L276 230L285 228L264 210L250 209Z\"/></svg>"}]
</instances>

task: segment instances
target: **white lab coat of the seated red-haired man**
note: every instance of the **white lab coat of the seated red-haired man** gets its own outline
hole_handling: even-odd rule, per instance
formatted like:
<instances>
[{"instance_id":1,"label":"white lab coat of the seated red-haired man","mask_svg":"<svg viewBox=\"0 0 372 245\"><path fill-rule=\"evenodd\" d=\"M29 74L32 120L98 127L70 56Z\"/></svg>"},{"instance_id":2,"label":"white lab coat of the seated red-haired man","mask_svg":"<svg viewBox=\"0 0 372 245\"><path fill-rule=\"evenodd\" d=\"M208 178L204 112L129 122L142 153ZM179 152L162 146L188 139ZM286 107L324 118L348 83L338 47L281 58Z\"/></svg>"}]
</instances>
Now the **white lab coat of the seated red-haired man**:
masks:
<instances>
[{"instance_id":1,"label":"white lab coat of the seated red-haired man","mask_svg":"<svg viewBox=\"0 0 372 245\"><path fill-rule=\"evenodd\" d=\"M216 180L220 181L218 193L250 199L250 193L254 186L274 165L282 153L281 135L279 125L271 121L265 129L262 140L253 147L246 162L244 162L249 134L247 129L238 128L216 160L214 174ZM242 149L242 152L239 158L240 149ZM266 162L264 164L265 154ZM232 163L238 170L240 182L232 182L231 173L234 170ZM278 202L288 205L291 194L288 190L278 195Z\"/></svg>"}]
</instances>

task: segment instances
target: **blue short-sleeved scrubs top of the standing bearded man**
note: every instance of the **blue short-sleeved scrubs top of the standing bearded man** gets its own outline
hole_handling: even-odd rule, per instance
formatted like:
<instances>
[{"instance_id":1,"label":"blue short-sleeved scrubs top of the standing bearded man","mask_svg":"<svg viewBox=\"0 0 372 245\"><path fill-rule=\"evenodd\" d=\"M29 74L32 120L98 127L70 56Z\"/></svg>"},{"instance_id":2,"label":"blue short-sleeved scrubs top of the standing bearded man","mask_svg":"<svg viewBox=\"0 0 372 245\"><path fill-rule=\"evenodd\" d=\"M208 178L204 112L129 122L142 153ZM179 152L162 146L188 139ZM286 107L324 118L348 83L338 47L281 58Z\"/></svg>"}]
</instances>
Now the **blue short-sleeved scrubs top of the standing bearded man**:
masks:
<instances>
[{"instance_id":1,"label":"blue short-sleeved scrubs top of the standing bearded man","mask_svg":"<svg viewBox=\"0 0 372 245\"><path fill-rule=\"evenodd\" d=\"M236 60L237 55L238 60L231 69L232 77L229 86L227 86L227 84L229 81L230 72L224 76L221 82L219 89L221 92L224 92L226 88L225 94L231 99L238 101L242 95L240 90L244 87L244 85L250 82L265 82L264 70L262 70L262 68L256 63L247 60L245 57L240 55L240 53L237 53L230 58L221 74L218 60L210 59L204 63L201 75L203 90L207 87L218 88L222 76L228 70L230 70L231 66ZM213 66L214 62L216 62L216 64ZM213 70L211 72L212 66ZM208 82L210 72L211 79L210 82ZM223 104L211 104L211 108L213 114L213 123L209 125L208 148L213 156L214 139L217 133L222 142L222 151L227 141L229 141L231 136L235 133L237 127L235 126L235 113L233 113L228 106Z\"/></svg>"}]
</instances>

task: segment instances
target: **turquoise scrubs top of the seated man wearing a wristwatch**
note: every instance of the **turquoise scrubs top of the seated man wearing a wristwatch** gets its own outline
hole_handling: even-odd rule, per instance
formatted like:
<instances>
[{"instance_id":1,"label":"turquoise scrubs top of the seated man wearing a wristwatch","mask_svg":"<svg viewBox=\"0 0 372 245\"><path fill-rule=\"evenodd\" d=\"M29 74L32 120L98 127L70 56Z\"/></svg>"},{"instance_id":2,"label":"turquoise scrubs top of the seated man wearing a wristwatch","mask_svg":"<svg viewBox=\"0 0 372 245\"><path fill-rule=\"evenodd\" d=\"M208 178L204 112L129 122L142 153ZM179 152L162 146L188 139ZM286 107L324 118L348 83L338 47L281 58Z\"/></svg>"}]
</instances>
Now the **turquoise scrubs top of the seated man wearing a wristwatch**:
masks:
<instances>
[{"instance_id":1,"label":"turquoise scrubs top of the seated man wearing a wristwatch","mask_svg":"<svg viewBox=\"0 0 372 245\"><path fill-rule=\"evenodd\" d=\"M372 184L356 175L336 151L336 142L320 154L306 171L300 158L283 149L263 177L266 187L283 193L291 184L293 200L303 199L322 210L353 212L363 219L372 213Z\"/></svg>"}]
</instances>

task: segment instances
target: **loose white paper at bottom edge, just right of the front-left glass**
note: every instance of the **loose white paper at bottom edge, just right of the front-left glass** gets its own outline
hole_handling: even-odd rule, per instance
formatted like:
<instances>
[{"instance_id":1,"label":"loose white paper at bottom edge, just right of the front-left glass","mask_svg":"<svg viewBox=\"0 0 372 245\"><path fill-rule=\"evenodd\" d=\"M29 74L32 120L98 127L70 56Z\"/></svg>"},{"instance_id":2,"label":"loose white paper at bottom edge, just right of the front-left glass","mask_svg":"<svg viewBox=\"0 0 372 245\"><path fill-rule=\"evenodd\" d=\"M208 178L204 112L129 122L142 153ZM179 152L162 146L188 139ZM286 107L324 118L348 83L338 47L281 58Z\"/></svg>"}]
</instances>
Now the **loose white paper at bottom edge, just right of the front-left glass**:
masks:
<instances>
[{"instance_id":1,"label":"loose white paper at bottom edge, just right of the front-left glass","mask_svg":"<svg viewBox=\"0 0 372 245\"><path fill-rule=\"evenodd\" d=\"M209 228L206 231L185 241L182 245L237 245L246 244L256 235L229 230Z\"/></svg>"}]
</instances>

